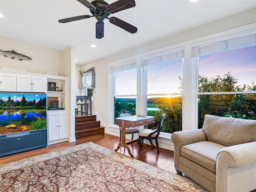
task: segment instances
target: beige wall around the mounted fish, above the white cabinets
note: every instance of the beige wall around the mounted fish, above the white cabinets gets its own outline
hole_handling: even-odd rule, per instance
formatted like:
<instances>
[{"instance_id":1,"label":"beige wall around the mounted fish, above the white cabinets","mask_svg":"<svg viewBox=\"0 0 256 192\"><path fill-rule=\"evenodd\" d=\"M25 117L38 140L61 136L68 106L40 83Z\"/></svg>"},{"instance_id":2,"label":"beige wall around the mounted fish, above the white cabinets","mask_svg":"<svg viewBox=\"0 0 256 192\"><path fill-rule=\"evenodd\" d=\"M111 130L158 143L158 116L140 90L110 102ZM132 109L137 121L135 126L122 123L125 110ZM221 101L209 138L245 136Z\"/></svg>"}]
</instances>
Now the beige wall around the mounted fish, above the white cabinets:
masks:
<instances>
[{"instance_id":1,"label":"beige wall around the mounted fish, above the white cabinets","mask_svg":"<svg viewBox=\"0 0 256 192\"><path fill-rule=\"evenodd\" d=\"M62 66L62 51L55 50L27 42L0 37L0 49L3 51L15 50L17 53L24 54L32 60L11 59L0 55L0 66L20 68L27 72L46 74L46 71L56 71L58 75L65 76Z\"/></svg>"}]
</instances>

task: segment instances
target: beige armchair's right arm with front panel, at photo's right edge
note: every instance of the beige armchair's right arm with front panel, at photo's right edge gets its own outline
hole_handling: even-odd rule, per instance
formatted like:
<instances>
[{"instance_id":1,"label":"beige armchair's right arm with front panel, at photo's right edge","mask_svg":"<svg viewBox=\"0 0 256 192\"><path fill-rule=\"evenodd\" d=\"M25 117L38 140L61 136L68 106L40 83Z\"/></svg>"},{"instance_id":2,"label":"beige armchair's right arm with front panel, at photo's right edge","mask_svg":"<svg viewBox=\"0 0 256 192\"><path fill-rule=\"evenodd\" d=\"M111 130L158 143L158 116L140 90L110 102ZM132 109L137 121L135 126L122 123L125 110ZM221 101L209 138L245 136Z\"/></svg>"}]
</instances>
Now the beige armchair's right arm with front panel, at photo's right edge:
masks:
<instances>
[{"instance_id":1,"label":"beige armchair's right arm with front panel, at photo's right edge","mask_svg":"<svg viewBox=\"0 0 256 192\"><path fill-rule=\"evenodd\" d=\"M216 160L216 192L256 188L256 142L222 148Z\"/></svg>"}]
</instances>

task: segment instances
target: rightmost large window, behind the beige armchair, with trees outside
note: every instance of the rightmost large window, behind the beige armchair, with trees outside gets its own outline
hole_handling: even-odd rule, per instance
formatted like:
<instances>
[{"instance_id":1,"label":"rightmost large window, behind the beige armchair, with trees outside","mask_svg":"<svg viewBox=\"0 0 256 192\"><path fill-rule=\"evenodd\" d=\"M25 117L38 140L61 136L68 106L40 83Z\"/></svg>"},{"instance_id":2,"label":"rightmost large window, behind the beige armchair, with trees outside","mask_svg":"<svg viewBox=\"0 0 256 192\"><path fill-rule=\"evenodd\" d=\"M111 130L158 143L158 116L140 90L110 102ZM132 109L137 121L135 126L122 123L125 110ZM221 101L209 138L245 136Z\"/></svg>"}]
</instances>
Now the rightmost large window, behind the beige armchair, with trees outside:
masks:
<instances>
[{"instance_id":1,"label":"rightmost large window, behind the beige armchair, with trees outside","mask_svg":"<svg viewBox=\"0 0 256 192\"><path fill-rule=\"evenodd\" d=\"M198 128L205 114L256 119L256 34L192 47Z\"/></svg>"}]
</instances>

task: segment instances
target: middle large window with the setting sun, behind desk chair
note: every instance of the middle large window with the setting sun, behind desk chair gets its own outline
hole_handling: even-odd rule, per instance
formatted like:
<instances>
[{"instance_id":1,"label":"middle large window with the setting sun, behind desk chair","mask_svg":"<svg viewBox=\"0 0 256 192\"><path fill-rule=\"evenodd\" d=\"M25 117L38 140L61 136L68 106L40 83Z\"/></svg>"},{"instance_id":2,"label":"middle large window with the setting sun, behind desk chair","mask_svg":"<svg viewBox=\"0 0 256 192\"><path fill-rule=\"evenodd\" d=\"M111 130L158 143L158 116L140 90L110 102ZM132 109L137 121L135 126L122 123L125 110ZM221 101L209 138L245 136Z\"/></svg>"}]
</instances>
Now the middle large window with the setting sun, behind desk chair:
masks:
<instances>
[{"instance_id":1,"label":"middle large window with the setting sun, behind desk chair","mask_svg":"<svg viewBox=\"0 0 256 192\"><path fill-rule=\"evenodd\" d=\"M184 48L146 56L141 61L144 72L146 114L155 116L155 127L163 113L161 132L182 130L182 65Z\"/></svg>"}]
</instances>

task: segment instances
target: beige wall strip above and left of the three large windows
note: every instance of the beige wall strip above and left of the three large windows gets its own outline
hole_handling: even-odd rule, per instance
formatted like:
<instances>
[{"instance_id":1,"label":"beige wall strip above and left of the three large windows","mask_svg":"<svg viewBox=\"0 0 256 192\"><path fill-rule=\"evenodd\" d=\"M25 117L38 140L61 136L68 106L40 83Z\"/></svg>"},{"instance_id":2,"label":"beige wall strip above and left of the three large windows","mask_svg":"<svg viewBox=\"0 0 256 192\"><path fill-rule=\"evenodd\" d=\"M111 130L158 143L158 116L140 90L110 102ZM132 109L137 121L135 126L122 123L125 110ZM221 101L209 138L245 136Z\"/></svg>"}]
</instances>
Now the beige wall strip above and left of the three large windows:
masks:
<instances>
[{"instance_id":1,"label":"beige wall strip above and left of the three large windows","mask_svg":"<svg viewBox=\"0 0 256 192\"><path fill-rule=\"evenodd\" d=\"M147 44L132 48L130 50L126 50L118 54L114 54L112 56L108 56L82 65L81 70L86 70L92 66L95 66L96 88L94 89L94 110L96 110L97 114L100 116L104 124L109 125L108 63L149 52L152 50L164 48L166 46L186 42L188 40L193 40L210 34L215 34L225 30L230 30L233 28L256 23L255 12L256 8L252 8L250 10L246 10L244 12L240 12L238 14L228 16L226 18L222 18L220 20L216 20L214 22L210 22L208 24L186 30L178 34L167 36L165 38L149 42Z\"/></svg>"}]
</instances>

